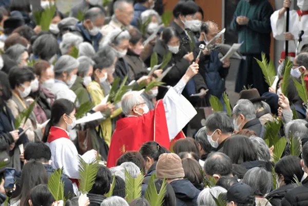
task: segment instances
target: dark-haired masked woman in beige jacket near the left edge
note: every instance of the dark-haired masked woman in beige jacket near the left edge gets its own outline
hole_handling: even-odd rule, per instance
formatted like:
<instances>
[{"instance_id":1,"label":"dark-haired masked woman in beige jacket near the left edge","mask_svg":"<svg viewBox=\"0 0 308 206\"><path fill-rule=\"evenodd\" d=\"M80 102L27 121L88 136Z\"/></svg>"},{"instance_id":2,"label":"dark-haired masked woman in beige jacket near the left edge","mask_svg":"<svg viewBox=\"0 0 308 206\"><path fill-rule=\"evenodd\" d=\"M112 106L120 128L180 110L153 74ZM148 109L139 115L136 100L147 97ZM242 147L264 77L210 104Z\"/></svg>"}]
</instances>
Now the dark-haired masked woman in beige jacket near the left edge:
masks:
<instances>
[{"instance_id":1,"label":"dark-haired masked woman in beige jacket near the left edge","mask_svg":"<svg viewBox=\"0 0 308 206\"><path fill-rule=\"evenodd\" d=\"M9 81L13 95L8 100L7 105L15 118L29 107L25 98L31 92L30 85L32 80L34 80L34 74L28 67L14 67L9 73ZM25 122L24 127L26 129L29 128L26 134L30 141L40 141L42 139L43 133L41 128L38 127L33 112Z\"/></svg>"}]
</instances>

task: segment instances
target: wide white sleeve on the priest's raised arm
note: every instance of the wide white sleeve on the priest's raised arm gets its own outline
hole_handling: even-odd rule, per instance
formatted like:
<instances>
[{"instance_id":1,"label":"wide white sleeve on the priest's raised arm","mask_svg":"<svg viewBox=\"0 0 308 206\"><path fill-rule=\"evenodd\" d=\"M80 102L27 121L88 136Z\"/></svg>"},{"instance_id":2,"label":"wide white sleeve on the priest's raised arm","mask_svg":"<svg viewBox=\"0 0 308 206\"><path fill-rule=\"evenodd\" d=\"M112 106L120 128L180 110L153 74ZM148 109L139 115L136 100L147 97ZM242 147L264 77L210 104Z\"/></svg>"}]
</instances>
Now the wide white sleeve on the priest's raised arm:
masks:
<instances>
[{"instance_id":1,"label":"wide white sleeve on the priest's raised arm","mask_svg":"<svg viewBox=\"0 0 308 206\"><path fill-rule=\"evenodd\" d=\"M195 108L181 94L184 87L184 81L180 80L174 88L171 87L168 90L163 98L170 140L174 139L197 114Z\"/></svg>"}]
</instances>

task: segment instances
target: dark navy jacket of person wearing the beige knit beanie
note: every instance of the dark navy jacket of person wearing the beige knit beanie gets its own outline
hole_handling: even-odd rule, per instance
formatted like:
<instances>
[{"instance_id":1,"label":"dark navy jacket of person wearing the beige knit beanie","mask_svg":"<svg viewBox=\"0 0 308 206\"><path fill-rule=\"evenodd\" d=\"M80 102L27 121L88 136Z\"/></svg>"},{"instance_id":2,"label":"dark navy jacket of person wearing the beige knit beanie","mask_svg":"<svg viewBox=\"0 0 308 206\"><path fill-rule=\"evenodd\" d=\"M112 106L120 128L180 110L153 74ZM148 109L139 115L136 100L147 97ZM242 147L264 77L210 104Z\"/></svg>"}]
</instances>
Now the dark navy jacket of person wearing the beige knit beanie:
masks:
<instances>
[{"instance_id":1,"label":"dark navy jacket of person wearing the beige knit beanie","mask_svg":"<svg viewBox=\"0 0 308 206\"><path fill-rule=\"evenodd\" d=\"M170 183L176 193L177 206L195 206L200 190L186 179L175 180Z\"/></svg>"}]
</instances>

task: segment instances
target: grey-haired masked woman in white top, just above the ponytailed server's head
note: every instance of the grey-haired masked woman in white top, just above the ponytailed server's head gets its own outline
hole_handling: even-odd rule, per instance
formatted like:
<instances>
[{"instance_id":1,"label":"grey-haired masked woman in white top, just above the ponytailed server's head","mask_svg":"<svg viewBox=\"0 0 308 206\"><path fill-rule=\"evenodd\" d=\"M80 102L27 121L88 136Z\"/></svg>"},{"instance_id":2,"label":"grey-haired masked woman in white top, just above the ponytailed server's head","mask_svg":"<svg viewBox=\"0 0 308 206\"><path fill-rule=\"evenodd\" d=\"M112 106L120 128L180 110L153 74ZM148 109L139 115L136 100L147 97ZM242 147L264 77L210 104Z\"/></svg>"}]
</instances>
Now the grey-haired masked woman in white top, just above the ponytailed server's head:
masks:
<instances>
[{"instance_id":1,"label":"grey-haired masked woman in white top, just above the ponytailed server's head","mask_svg":"<svg viewBox=\"0 0 308 206\"><path fill-rule=\"evenodd\" d=\"M54 85L51 92L55 99L68 99L75 102L76 94L69 88L75 83L77 78L79 62L75 58L63 55L54 65Z\"/></svg>"}]
</instances>

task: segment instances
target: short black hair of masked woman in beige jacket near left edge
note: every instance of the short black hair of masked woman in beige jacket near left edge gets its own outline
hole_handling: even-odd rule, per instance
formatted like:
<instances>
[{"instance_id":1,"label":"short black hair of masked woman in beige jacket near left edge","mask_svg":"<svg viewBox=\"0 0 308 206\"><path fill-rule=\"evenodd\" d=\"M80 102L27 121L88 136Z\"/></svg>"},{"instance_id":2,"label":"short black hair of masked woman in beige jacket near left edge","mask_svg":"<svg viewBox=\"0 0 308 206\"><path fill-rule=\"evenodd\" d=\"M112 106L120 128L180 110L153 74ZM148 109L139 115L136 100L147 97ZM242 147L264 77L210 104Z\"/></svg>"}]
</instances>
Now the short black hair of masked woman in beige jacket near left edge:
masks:
<instances>
[{"instance_id":1,"label":"short black hair of masked woman in beige jacket near left edge","mask_svg":"<svg viewBox=\"0 0 308 206\"><path fill-rule=\"evenodd\" d=\"M9 81L12 89L24 84L26 81L34 80L34 73L31 72L29 66L24 67L14 67L10 69Z\"/></svg>"}]
</instances>

